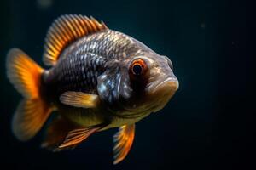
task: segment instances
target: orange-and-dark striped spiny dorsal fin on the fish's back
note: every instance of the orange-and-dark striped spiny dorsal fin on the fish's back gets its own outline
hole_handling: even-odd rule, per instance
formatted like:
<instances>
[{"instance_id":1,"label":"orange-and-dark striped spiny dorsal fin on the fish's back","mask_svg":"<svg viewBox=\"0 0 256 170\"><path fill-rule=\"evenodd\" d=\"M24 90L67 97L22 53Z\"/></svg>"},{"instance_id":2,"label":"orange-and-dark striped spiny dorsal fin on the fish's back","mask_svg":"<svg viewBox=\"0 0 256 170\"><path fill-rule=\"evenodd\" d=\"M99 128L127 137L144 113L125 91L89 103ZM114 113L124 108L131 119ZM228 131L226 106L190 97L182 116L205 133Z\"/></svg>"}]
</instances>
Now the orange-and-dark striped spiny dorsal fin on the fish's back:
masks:
<instances>
[{"instance_id":1,"label":"orange-and-dark striped spiny dorsal fin on the fish's back","mask_svg":"<svg viewBox=\"0 0 256 170\"><path fill-rule=\"evenodd\" d=\"M68 44L96 31L108 29L103 23L83 15L65 14L49 27L44 44L43 60L45 65L55 65L62 50Z\"/></svg>"}]
</instances>

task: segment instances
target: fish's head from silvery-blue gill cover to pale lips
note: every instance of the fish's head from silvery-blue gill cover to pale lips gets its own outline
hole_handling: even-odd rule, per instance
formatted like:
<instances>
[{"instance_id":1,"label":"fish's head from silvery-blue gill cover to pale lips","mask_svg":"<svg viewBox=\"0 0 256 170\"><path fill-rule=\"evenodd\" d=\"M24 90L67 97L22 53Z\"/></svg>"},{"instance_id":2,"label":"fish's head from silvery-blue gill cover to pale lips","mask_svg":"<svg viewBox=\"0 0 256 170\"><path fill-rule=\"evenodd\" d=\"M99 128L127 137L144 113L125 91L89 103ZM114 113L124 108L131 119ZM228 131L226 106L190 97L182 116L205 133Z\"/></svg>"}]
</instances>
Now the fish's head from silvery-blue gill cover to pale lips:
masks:
<instances>
[{"instance_id":1,"label":"fish's head from silvery-blue gill cover to pale lips","mask_svg":"<svg viewBox=\"0 0 256 170\"><path fill-rule=\"evenodd\" d=\"M116 114L141 116L159 111L177 91L172 61L166 56L140 54L106 65L97 90L102 102Z\"/></svg>"}]
</instances>

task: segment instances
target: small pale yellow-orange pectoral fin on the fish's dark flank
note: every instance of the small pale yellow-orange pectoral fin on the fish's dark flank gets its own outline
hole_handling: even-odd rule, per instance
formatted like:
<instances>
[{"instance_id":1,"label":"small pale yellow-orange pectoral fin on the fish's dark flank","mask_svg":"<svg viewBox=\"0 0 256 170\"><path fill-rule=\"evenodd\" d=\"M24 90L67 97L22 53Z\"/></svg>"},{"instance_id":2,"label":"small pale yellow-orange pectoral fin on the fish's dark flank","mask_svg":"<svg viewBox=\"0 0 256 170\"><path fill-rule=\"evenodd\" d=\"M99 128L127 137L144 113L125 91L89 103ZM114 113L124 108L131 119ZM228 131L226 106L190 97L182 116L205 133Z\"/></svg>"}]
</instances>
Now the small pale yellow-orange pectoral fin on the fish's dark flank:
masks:
<instances>
[{"instance_id":1,"label":"small pale yellow-orange pectoral fin on the fish's dark flank","mask_svg":"<svg viewBox=\"0 0 256 170\"><path fill-rule=\"evenodd\" d=\"M83 92L65 92L61 94L62 104L73 107L95 108L99 104L99 97L95 94L85 94Z\"/></svg>"}]
</instances>

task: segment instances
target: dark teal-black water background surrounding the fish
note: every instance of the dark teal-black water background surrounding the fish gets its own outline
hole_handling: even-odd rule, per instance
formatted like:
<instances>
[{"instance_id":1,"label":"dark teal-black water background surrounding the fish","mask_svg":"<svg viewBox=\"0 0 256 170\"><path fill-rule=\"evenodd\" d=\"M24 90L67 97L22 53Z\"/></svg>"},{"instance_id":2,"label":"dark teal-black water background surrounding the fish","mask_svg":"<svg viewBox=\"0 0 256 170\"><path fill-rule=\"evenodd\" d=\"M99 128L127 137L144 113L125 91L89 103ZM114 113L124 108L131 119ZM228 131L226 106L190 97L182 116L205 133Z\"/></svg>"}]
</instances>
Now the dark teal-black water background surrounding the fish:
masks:
<instances>
[{"instance_id":1,"label":"dark teal-black water background surrounding the fish","mask_svg":"<svg viewBox=\"0 0 256 170\"><path fill-rule=\"evenodd\" d=\"M236 0L1 0L1 168L256 169L254 9ZM26 143L11 133L21 96L6 78L6 54L17 47L44 66L44 37L61 14L92 15L172 59L177 94L137 122L131 151L116 166L117 129L56 153L40 148L42 132Z\"/></svg>"}]
</instances>

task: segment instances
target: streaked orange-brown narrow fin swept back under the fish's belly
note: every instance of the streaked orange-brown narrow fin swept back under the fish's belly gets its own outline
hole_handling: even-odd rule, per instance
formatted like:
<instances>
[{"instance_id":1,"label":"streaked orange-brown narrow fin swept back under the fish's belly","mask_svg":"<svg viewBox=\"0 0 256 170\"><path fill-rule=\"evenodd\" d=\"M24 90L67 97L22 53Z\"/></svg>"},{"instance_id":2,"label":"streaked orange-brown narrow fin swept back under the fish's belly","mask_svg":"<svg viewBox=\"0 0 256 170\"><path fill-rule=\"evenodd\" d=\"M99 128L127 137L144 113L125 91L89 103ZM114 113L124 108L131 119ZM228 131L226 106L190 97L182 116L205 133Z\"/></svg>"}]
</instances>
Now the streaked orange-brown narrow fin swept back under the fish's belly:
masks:
<instances>
[{"instance_id":1,"label":"streaked orange-brown narrow fin swept back under the fish's belly","mask_svg":"<svg viewBox=\"0 0 256 170\"><path fill-rule=\"evenodd\" d=\"M92 133L96 133L96 131L100 130L102 127L105 127L105 125L103 126L101 124L93 127L74 129L67 134L66 139L64 140L63 144L59 146L59 148L62 149L79 144L83 140L87 139Z\"/></svg>"}]
</instances>

